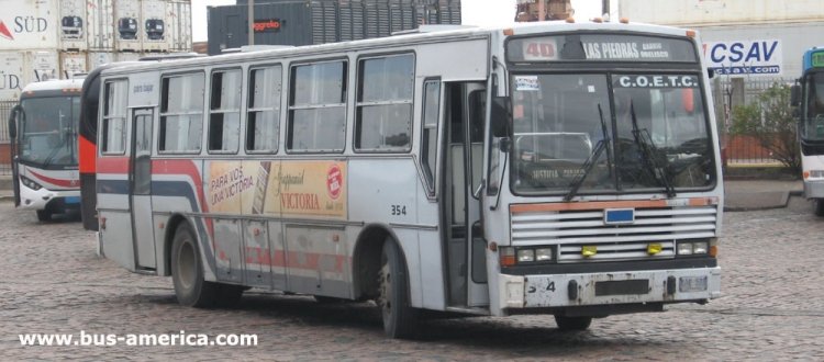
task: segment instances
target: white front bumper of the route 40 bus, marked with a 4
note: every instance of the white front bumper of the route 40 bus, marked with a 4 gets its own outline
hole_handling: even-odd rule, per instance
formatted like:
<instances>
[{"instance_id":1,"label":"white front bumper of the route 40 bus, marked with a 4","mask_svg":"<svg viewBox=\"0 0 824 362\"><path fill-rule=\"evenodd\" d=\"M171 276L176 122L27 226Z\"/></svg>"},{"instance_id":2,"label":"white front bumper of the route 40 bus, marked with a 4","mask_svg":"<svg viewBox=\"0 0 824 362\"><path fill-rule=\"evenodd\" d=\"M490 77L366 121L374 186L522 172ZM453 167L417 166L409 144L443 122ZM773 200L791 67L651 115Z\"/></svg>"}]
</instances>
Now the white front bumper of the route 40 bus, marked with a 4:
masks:
<instances>
[{"instance_id":1,"label":"white front bumper of the route 40 bus, marked with a 4","mask_svg":"<svg viewBox=\"0 0 824 362\"><path fill-rule=\"evenodd\" d=\"M721 296L717 267L500 276L500 306L509 309L703 302Z\"/></svg>"}]
</instances>

